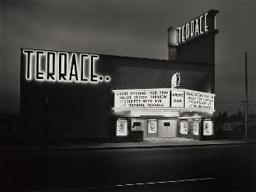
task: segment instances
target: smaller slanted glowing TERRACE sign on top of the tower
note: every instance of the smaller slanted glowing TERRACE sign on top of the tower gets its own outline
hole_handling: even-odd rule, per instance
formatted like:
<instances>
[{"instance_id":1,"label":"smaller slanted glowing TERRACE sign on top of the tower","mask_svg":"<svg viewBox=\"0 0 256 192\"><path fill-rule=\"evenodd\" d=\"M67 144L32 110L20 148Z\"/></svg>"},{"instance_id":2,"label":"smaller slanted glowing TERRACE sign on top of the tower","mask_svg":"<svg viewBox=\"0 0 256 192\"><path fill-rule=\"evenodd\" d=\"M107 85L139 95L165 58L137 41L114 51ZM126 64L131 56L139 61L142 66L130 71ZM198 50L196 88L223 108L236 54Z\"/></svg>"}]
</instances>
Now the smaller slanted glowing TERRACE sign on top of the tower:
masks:
<instances>
[{"instance_id":1,"label":"smaller slanted glowing TERRACE sign on top of the tower","mask_svg":"<svg viewBox=\"0 0 256 192\"><path fill-rule=\"evenodd\" d=\"M195 36L206 33L208 29L208 15L206 12L200 15L198 18L187 22L185 25L178 27L178 43L184 43L185 41L192 39Z\"/></svg>"}]
</instances>

